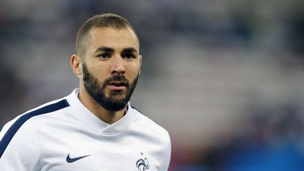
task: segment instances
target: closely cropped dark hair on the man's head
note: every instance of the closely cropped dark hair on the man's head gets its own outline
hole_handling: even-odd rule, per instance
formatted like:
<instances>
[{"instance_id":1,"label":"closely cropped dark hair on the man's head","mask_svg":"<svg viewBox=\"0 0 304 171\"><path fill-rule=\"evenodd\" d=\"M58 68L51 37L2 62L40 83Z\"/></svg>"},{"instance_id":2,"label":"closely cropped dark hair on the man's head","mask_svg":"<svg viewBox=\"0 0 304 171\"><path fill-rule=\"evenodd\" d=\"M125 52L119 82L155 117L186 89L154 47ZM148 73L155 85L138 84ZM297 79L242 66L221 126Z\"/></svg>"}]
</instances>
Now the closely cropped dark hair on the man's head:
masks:
<instances>
[{"instance_id":1,"label":"closely cropped dark hair on the man's head","mask_svg":"<svg viewBox=\"0 0 304 171\"><path fill-rule=\"evenodd\" d=\"M132 25L129 23L129 21L127 21L127 19L123 18L122 16L113 13L95 15L94 17L86 20L77 33L75 51L78 56L84 58L87 48L87 44L85 42L87 40L87 35L92 28L99 27L110 27L115 30L125 29L126 27L129 27L137 36Z\"/></svg>"}]
</instances>

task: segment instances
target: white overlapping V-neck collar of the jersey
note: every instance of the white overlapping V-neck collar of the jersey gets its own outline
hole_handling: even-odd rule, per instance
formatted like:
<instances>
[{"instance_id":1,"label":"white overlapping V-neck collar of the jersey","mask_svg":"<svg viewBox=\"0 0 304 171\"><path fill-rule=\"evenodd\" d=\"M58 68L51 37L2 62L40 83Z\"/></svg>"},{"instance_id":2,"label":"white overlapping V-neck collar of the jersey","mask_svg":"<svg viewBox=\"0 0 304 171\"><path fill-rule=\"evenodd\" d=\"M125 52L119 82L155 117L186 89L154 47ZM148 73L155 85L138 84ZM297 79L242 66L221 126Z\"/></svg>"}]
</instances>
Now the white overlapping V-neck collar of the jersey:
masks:
<instances>
[{"instance_id":1,"label":"white overlapping V-neck collar of the jersey","mask_svg":"<svg viewBox=\"0 0 304 171\"><path fill-rule=\"evenodd\" d=\"M132 107L130 103L127 103L127 113L120 118L120 120L114 122L113 124L108 124L103 122L103 120L99 119L91 113L89 109L87 109L80 99L78 99L80 89L77 88L70 95L66 97L68 103L72 107L72 115L75 116L82 124L94 129L96 132L100 132L102 134L116 134L118 132L122 132L123 130L127 129L132 122L133 113Z\"/></svg>"}]
</instances>

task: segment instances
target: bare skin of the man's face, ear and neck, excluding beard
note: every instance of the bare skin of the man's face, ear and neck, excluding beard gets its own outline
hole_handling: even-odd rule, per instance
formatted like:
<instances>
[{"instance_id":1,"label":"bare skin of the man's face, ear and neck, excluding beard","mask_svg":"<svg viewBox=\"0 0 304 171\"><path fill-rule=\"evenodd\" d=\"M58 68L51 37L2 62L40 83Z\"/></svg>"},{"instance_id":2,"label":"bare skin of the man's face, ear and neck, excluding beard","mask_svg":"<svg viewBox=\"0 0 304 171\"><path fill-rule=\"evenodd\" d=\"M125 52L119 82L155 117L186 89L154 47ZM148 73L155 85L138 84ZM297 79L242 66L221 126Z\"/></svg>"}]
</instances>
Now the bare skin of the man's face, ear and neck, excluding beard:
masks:
<instances>
[{"instance_id":1,"label":"bare skin of the man's face, ear and neck, excluding beard","mask_svg":"<svg viewBox=\"0 0 304 171\"><path fill-rule=\"evenodd\" d=\"M142 57L139 55L139 41L129 27L120 30L114 30L110 27L92 28L88 36L85 57L81 58L77 54L73 54L70 60L72 70L80 80L79 99L99 119L113 124L122 118L127 106L122 110L109 111L92 99L84 88L82 64L85 63L99 84L114 75L124 75L129 82L133 82L140 74L141 68ZM130 49L132 51L127 51ZM107 86L106 96L113 96L115 99L125 97L125 89L122 90L122 94L110 95L110 91L113 89L115 87Z\"/></svg>"}]
</instances>

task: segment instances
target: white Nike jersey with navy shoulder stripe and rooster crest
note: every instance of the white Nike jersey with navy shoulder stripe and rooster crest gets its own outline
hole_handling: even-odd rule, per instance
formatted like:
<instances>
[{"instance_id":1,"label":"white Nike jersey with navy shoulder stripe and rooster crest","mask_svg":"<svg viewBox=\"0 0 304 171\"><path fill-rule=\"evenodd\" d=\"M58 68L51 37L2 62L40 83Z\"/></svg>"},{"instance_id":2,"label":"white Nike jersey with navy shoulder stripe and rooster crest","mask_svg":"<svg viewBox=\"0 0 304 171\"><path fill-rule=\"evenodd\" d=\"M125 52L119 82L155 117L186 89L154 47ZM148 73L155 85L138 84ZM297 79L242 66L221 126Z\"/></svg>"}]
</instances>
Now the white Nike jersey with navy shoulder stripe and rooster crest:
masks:
<instances>
[{"instance_id":1,"label":"white Nike jersey with navy shoulder stripe and rooster crest","mask_svg":"<svg viewBox=\"0 0 304 171\"><path fill-rule=\"evenodd\" d=\"M167 170L169 134L132 108L112 125L77 98L79 89L19 115L0 132L0 170Z\"/></svg>"}]
</instances>

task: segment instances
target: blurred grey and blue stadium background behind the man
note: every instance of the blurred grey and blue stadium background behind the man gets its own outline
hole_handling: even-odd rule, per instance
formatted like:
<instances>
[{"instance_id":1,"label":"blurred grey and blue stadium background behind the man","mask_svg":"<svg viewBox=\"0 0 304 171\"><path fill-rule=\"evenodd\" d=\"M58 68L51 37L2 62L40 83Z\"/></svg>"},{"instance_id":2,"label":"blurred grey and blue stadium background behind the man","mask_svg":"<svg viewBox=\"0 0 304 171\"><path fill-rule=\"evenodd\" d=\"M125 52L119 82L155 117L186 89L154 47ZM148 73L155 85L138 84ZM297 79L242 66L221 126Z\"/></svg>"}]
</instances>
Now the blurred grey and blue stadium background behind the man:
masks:
<instances>
[{"instance_id":1,"label":"blurred grey and blue stadium background behind the man","mask_svg":"<svg viewBox=\"0 0 304 171\"><path fill-rule=\"evenodd\" d=\"M132 103L170 132L170 170L303 170L301 0L1 0L0 128L77 87L77 30L100 13L139 34Z\"/></svg>"}]
</instances>

